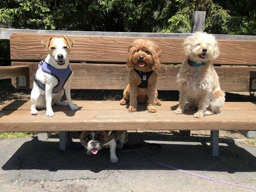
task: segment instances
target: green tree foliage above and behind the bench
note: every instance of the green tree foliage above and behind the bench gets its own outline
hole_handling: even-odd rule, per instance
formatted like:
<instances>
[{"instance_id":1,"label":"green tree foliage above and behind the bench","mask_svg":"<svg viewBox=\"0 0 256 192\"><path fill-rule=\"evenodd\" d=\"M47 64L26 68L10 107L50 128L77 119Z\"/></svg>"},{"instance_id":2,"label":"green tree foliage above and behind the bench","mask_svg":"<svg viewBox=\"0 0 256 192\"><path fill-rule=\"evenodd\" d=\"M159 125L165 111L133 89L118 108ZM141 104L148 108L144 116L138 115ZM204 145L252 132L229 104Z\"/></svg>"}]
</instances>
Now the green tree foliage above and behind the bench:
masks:
<instances>
[{"instance_id":1,"label":"green tree foliage above and behind the bench","mask_svg":"<svg viewBox=\"0 0 256 192\"><path fill-rule=\"evenodd\" d=\"M11 28L175 32L206 11L205 31L256 35L256 0L2 0L0 24Z\"/></svg>"}]
</instances>

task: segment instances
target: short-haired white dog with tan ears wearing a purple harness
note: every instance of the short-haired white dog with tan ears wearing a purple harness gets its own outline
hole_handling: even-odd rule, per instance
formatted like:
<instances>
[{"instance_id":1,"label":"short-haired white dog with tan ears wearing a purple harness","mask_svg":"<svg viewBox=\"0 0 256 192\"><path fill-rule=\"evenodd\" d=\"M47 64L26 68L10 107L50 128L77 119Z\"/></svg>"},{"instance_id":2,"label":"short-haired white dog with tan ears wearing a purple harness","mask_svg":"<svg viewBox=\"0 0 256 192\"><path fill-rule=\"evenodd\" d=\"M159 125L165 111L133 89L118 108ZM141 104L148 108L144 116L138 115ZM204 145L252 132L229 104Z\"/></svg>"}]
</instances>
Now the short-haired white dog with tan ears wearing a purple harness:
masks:
<instances>
[{"instance_id":1,"label":"short-haired white dog with tan ears wearing a purple harness","mask_svg":"<svg viewBox=\"0 0 256 192\"><path fill-rule=\"evenodd\" d=\"M37 108L46 108L46 116L53 117L52 105L69 106L77 110L71 100L71 80L73 72L69 65L69 51L73 47L73 40L69 37L48 38L41 42L49 54L45 60L39 62L37 73L31 92L31 114L37 115ZM65 95L66 101L61 101Z\"/></svg>"}]
</instances>

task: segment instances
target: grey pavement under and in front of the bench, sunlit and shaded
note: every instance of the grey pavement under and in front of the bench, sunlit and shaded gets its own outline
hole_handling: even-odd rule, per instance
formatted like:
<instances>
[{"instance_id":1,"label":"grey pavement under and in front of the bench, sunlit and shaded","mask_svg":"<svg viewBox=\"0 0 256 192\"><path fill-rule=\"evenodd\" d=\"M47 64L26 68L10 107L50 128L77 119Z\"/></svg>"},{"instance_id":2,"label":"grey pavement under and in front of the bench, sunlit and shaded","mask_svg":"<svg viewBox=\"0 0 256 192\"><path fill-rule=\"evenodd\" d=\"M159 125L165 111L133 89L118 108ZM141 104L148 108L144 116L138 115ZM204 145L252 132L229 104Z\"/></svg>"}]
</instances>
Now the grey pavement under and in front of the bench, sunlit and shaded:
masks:
<instances>
[{"instance_id":1,"label":"grey pavement under and in front of the bench, sunlit and shaded","mask_svg":"<svg viewBox=\"0 0 256 192\"><path fill-rule=\"evenodd\" d=\"M127 143L139 143L136 134ZM142 136L159 143L160 151L140 148L145 155L207 177L256 187L256 147L221 144L219 157L210 156L210 146L183 142L160 133ZM0 140L1 192L172 192L248 191L163 168L134 152L117 152L119 162L111 164L109 150L86 156L84 149L61 152L56 139Z\"/></svg>"}]
</instances>

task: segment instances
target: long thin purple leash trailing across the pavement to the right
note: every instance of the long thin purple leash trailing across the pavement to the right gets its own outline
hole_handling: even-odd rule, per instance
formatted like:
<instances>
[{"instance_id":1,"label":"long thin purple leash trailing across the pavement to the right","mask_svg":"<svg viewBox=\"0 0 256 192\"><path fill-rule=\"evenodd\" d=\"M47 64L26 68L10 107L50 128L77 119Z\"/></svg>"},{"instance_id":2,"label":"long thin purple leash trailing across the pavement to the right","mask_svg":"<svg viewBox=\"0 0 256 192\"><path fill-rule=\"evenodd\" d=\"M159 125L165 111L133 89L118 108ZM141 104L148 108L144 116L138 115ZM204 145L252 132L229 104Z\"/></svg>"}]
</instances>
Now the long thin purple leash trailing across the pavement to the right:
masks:
<instances>
[{"instance_id":1,"label":"long thin purple leash trailing across the pavement to the right","mask_svg":"<svg viewBox=\"0 0 256 192\"><path fill-rule=\"evenodd\" d=\"M175 168L175 167L172 167L170 165L166 165L160 161L156 161L152 158L150 158L149 156L146 156L145 154L143 154L142 152L136 150L136 149L128 149L128 150L123 150L123 151L120 151L122 153L127 153L127 152L136 152L138 154L140 154L141 156L144 156L146 159L152 161L153 163L157 164L157 165L160 165L162 167L165 167L165 168L170 168L170 169L173 169L173 170L177 170L177 171L180 171L182 173L187 173L189 175L193 175L193 176L196 176L196 177L200 177L202 179L206 179L206 180L211 180L211 181L215 181L215 182L218 182L218 183L223 183L223 184L227 184L227 185L232 185L232 186L236 186L236 187L243 187L243 188L246 188L246 189L253 189L253 190L256 190L256 187L250 187L250 186L246 186L246 185L240 185L240 184L236 184L236 183L231 183L231 182L227 182L227 181L223 181L223 180L216 180L216 179L213 179L213 178L210 178L210 177L206 177L206 176L203 176L203 175L199 175L199 174L196 174L196 173L192 173L192 172L189 172L189 171L186 171L186 170L183 170L183 169L178 169L178 168Z\"/></svg>"}]
</instances>

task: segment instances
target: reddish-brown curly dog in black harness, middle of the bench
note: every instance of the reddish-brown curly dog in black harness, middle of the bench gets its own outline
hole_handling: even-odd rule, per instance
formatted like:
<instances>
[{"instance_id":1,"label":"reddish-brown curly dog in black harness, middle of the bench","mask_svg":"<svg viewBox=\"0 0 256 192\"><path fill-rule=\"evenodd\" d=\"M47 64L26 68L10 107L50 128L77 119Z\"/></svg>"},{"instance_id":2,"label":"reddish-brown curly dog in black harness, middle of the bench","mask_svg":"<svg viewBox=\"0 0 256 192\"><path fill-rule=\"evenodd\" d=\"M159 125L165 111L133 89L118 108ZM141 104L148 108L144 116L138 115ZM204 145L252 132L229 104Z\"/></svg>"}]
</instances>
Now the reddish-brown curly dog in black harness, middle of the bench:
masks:
<instances>
[{"instance_id":1,"label":"reddish-brown curly dog in black harness, middle of the bench","mask_svg":"<svg viewBox=\"0 0 256 192\"><path fill-rule=\"evenodd\" d=\"M152 41L137 39L128 48L127 66L131 71L120 104L126 105L130 100L129 111L136 111L137 103L147 103L149 112L157 112L156 105L161 105L156 90L160 60L161 50Z\"/></svg>"}]
</instances>

